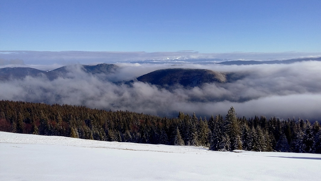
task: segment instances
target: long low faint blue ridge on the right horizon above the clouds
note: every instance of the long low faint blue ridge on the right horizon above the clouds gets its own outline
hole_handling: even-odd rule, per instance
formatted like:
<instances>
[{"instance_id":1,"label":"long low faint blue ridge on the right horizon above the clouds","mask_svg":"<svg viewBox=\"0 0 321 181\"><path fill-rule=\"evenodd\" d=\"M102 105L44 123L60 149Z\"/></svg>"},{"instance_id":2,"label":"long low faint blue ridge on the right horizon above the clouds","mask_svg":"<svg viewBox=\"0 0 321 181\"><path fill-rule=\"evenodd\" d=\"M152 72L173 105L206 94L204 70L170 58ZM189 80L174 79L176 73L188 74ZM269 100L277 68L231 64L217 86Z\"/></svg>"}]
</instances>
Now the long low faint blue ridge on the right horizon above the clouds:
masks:
<instances>
[{"instance_id":1,"label":"long low faint blue ridge on the right horizon above the clouds","mask_svg":"<svg viewBox=\"0 0 321 181\"><path fill-rule=\"evenodd\" d=\"M321 57L305 58L305 59L271 60L271 61L233 60L233 61L223 61L216 64L221 64L221 65L290 64L290 63L310 61L310 60L321 61Z\"/></svg>"}]
</instances>

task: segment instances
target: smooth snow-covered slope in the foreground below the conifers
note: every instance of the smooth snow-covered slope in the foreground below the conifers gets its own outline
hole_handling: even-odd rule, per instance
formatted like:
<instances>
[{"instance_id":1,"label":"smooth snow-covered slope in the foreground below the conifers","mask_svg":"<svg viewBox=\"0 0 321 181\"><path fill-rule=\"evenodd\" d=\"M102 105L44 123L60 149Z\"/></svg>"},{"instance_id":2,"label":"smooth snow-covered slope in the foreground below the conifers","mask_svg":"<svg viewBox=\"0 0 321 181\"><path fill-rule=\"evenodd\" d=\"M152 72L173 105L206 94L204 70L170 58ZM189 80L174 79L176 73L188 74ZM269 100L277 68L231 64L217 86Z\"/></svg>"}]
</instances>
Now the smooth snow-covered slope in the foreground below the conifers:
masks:
<instances>
[{"instance_id":1,"label":"smooth snow-covered slope in the foreground below the conifers","mask_svg":"<svg viewBox=\"0 0 321 181\"><path fill-rule=\"evenodd\" d=\"M0 132L0 180L321 180L321 155Z\"/></svg>"}]
</instances>

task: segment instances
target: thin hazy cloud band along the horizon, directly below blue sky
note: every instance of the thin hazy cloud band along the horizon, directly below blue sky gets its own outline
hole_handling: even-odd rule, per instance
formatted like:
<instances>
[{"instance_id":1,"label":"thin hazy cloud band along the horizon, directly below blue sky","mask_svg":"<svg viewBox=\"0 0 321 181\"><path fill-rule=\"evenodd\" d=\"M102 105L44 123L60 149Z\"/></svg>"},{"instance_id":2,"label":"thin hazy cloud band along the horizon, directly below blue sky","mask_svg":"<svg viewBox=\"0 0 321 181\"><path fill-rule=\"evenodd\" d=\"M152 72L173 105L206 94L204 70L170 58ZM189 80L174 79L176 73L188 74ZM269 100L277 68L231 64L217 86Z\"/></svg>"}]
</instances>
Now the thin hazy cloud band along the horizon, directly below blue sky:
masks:
<instances>
[{"instance_id":1,"label":"thin hazy cloud band along the horizon, directly below blue sky","mask_svg":"<svg viewBox=\"0 0 321 181\"><path fill-rule=\"evenodd\" d=\"M225 61L225 60L281 60L302 57L321 56L321 52L278 52L278 53L258 53L258 52L230 52L230 53L200 53L197 51L177 51L177 52L94 52L94 51L0 51L1 62L8 64L10 60L22 60L27 65L71 65L135 62L144 60L155 60L157 62L177 61ZM21 62L20 62L21 63Z\"/></svg>"}]
</instances>

